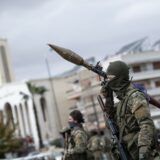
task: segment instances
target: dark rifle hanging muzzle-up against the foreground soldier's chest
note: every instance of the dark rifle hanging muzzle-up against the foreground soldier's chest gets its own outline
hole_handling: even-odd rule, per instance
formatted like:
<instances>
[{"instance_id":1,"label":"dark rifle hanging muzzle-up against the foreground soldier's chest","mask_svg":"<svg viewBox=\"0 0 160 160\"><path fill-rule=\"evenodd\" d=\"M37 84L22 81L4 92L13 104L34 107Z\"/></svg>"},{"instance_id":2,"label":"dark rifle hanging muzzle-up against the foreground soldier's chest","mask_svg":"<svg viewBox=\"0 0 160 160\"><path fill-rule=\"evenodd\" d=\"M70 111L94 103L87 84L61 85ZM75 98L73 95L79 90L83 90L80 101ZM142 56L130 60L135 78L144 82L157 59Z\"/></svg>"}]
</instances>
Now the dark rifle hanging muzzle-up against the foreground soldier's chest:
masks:
<instances>
[{"instance_id":1,"label":"dark rifle hanging muzzle-up against the foreground soldier's chest","mask_svg":"<svg viewBox=\"0 0 160 160\"><path fill-rule=\"evenodd\" d=\"M106 123L106 125L108 123L110 131L111 131L111 133L114 137L114 140L115 140L115 142L118 146L118 150L120 152L121 160L129 160L128 154L127 154L127 151L125 150L124 145L118 139L118 137L119 137L118 136L119 135L118 129L117 129L116 125L114 124L113 119L111 119L110 116L108 115L108 113L106 111L106 107L105 107L104 102L102 100L102 97L100 95L98 95L97 99L98 99L98 102L99 102L99 104L101 106L101 109L103 111L103 115L104 115L104 118L105 118L105 123Z\"/></svg>"}]
</instances>

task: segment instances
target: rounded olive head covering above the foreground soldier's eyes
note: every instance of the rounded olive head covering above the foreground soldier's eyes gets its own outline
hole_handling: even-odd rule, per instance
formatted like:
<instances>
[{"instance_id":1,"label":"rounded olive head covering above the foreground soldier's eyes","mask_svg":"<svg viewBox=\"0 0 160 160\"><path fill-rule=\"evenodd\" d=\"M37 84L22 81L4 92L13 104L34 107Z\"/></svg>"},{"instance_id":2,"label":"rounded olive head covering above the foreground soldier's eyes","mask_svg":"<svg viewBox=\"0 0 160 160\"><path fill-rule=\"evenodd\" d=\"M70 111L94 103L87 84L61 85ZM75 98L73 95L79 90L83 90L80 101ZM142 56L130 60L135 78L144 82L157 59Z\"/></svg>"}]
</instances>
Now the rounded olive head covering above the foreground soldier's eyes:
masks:
<instances>
[{"instance_id":1,"label":"rounded olive head covering above the foreground soldier's eyes","mask_svg":"<svg viewBox=\"0 0 160 160\"><path fill-rule=\"evenodd\" d=\"M129 66L122 61L110 62L107 68L107 75L115 75L117 78L129 78Z\"/></svg>"}]
</instances>

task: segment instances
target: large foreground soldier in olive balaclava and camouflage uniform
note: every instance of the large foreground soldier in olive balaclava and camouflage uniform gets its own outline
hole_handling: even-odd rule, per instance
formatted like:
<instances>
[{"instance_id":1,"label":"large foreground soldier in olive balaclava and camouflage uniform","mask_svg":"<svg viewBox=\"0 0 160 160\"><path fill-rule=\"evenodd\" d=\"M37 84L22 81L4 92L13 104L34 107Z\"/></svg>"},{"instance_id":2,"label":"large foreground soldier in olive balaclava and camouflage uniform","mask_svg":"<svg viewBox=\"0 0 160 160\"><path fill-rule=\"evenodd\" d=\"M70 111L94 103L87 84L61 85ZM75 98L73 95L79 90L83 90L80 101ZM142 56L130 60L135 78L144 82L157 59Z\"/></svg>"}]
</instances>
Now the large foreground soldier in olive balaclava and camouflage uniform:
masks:
<instances>
[{"instance_id":1,"label":"large foreground soldier in olive balaclava and camouflage uniform","mask_svg":"<svg viewBox=\"0 0 160 160\"><path fill-rule=\"evenodd\" d=\"M101 93L106 97L108 113L114 116L119 139L128 151L129 160L159 160L148 101L129 80L129 67L122 61L111 62L107 68L107 77L108 83L102 87ZM111 90L119 99L115 107L109 104L107 93Z\"/></svg>"}]
</instances>

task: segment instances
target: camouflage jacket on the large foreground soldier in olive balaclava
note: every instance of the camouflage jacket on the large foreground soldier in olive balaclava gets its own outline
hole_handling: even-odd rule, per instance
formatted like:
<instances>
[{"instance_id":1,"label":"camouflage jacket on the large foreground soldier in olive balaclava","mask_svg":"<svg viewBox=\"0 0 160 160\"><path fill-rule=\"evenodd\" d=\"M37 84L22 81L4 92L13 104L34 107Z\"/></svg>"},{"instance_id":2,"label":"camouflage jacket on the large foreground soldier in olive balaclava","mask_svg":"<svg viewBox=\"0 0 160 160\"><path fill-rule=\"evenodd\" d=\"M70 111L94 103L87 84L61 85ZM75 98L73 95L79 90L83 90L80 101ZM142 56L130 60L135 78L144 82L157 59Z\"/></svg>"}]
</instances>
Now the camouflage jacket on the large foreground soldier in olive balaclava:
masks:
<instances>
[{"instance_id":1,"label":"camouflage jacket on the large foreground soldier in olive balaclava","mask_svg":"<svg viewBox=\"0 0 160 160\"><path fill-rule=\"evenodd\" d=\"M116 112L120 139L126 141L128 147L136 140L137 147L154 145L155 128L147 99L142 92L129 86L123 100L117 104Z\"/></svg>"}]
</instances>

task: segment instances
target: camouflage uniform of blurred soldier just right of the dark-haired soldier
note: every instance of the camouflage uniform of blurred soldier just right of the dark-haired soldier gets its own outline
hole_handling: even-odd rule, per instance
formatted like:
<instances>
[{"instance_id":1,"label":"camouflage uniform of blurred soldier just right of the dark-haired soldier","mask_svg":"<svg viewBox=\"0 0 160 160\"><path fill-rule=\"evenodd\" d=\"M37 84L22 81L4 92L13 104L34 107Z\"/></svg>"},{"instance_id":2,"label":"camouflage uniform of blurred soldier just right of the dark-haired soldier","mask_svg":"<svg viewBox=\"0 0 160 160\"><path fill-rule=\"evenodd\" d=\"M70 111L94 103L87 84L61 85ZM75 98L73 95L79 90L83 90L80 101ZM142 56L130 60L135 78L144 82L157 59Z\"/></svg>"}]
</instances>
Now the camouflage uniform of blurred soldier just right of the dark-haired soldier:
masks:
<instances>
[{"instance_id":1,"label":"camouflage uniform of blurred soldier just right of the dark-haired soldier","mask_svg":"<svg viewBox=\"0 0 160 160\"><path fill-rule=\"evenodd\" d=\"M93 153L94 160L102 160L101 138L98 135L94 135L89 139L87 148Z\"/></svg>"}]
</instances>

